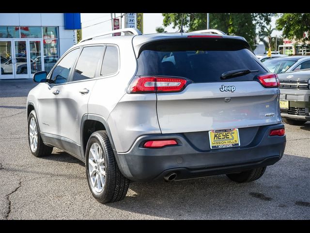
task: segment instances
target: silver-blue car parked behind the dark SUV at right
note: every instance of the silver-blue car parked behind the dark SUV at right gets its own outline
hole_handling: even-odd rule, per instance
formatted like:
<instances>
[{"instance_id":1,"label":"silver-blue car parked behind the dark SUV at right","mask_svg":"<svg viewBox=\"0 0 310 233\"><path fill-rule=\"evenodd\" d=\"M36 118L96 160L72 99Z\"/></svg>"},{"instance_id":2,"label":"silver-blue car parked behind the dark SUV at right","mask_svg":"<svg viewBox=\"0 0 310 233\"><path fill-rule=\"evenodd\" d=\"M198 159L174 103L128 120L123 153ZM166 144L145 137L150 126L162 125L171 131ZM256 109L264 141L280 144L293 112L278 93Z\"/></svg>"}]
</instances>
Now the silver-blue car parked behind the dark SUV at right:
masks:
<instances>
[{"instance_id":1,"label":"silver-blue car parked behind the dark SUV at right","mask_svg":"<svg viewBox=\"0 0 310 233\"><path fill-rule=\"evenodd\" d=\"M284 73L300 69L310 68L310 56L290 56L268 59L263 62L270 72Z\"/></svg>"}]
</instances>

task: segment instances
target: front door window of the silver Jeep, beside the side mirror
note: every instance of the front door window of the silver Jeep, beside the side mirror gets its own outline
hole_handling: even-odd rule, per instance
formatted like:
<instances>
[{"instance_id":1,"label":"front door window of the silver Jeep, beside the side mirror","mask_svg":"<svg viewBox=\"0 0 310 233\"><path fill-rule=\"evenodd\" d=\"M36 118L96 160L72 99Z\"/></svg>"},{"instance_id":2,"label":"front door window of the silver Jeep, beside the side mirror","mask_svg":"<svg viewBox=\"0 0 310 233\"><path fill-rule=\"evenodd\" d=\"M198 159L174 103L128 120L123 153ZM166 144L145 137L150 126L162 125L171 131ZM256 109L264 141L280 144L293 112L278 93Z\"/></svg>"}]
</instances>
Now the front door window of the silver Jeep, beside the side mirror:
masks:
<instances>
[{"instance_id":1,"label":"front door window of the silver Jeep, beside the side mirror","mask_svg":"<svg viewBox=\"0 0 310 233\"><path fill-rule=\"evenodd\" d=\"M66 83L71 67L75 63L77 56L79 53L79 49L72 50L67 55L65 55L62 60L58 63L58 65L54 68L53 73L50 78L51 83L59 84Z\"/></svg>"}]
</instances>

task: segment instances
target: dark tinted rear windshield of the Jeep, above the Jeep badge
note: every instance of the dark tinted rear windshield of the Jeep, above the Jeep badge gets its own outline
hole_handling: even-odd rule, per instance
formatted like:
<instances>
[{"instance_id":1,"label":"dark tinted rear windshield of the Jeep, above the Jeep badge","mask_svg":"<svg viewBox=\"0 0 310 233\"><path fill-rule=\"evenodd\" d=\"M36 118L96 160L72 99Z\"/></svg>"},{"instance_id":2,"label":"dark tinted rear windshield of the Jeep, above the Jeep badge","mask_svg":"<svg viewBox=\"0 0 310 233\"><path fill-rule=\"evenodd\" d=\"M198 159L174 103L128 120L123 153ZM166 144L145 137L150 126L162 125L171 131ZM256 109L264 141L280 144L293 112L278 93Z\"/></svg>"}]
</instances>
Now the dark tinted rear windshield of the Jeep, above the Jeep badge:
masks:
<instances>
[{"instance_id":1,"label":"dark tinted rear windshield of the Jeep, above the Jeep badge","mask_svg":"<svg viewBox=\"0 0 310 233\"><path fill-rule=\"evenodd\" d=\"M256 73L221 80L224 72L236 69ZM186 38L149 43L138 56L137 75L179 76L194 83L252 81L267 72L244 41L236 39Z\"/></svg>"}]
</instances>

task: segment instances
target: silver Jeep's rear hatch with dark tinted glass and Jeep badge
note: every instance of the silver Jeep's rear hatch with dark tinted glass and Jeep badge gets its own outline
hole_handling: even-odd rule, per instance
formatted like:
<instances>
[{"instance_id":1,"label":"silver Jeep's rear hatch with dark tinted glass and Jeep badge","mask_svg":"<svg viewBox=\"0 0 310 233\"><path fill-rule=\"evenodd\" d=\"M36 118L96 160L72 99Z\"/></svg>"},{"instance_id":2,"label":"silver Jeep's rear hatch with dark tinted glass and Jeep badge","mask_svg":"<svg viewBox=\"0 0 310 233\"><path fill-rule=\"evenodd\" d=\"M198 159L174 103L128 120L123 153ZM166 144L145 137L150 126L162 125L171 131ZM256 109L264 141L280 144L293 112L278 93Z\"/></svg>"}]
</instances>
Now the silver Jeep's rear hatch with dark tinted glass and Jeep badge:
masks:
<instances>
[{"instance_id":1,"label":"silver Jeep's rear hatch with dark tinted glass and Jeep badge","mask_svg":"<svg viewBox=\"0 0 310 233\"><path fill-rule=\"evenodd\" d=\"M181 92L156 93L162 133L186 133L276 124L279 89L265 88L257 77L269 71L248 43L217 36L149 42L138 54L137 76L183 77ZM255 72L223 79L223 73Z\"/></svg>"}]
</instances>

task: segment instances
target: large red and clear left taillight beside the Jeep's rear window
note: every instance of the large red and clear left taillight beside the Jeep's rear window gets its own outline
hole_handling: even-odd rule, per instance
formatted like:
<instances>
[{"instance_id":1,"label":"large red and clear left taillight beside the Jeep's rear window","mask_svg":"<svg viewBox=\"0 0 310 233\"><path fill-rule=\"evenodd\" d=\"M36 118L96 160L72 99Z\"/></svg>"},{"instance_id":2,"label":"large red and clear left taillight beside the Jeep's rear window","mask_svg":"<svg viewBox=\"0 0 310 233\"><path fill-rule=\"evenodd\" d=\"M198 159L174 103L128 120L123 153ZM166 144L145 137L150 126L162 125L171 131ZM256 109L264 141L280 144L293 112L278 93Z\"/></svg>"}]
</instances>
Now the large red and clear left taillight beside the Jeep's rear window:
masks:
<instances>
[{"instance_id":1,"label":"large red and clear left taillight beside the Jeep's rear window","mask_svg":"<svg viewBox=\"0 0 310 233\"><path fill-rule=\"evenodd\" d=\"M168 77L137 77L129 87L130 93L178 92L183 90L186 79Z\"/></svg>"}]
</instances>

